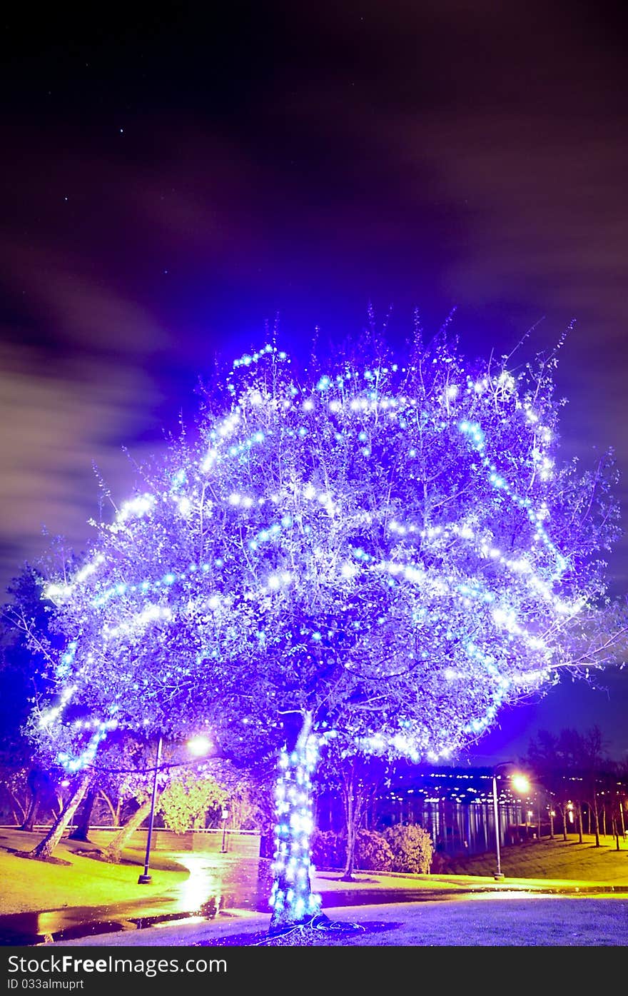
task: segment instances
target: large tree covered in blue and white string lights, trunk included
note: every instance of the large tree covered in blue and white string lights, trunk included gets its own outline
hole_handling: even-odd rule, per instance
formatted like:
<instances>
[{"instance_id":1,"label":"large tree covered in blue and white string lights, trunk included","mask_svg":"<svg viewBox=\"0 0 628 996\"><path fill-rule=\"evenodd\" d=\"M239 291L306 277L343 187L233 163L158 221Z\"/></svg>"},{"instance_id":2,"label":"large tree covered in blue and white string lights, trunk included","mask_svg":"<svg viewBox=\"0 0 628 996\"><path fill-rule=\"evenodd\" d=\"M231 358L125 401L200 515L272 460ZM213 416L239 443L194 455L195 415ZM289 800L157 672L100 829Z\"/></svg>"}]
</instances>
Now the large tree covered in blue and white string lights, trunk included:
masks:
<instances>
[{"instance_id":1,"label":"large tree covered in blue and white string lights, trunk included","mask_svg":"<svg viewBox=\"0 0 628 996\"><path fill-rule=\"evenodd\" d=\"M120 726L277 752L272 929L316 915L310 787L336 731L450 758L504 703L612 659L614 469L558 465L554 364L514 375L418 331L407 356L365 340L301 375L274 345L237 360L46 590L69 639L40 717L69 730L62 763Z\"/></svg>"}]
</instances>

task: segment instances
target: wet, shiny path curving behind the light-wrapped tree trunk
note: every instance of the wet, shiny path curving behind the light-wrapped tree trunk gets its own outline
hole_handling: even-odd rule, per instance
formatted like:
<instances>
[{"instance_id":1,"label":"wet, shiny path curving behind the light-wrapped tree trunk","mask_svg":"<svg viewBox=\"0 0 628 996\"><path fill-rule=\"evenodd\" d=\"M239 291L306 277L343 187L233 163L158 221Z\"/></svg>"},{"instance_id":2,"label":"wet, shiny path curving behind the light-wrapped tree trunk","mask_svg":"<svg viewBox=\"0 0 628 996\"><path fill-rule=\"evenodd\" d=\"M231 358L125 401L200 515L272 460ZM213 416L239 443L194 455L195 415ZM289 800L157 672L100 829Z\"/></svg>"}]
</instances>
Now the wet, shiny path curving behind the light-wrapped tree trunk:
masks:
<instances>
[{"instance_id":1,"label":"wet, shiny path curving behind the light-wrapped tree trunk","mask_svg":"<svg viewBox=\"0 0 628 996\"><path fill-rule=\"evenodd\" d=\"M103 906L73 906L0 916L0 944L35 945L137 931L158 924L209 923L217 917L234 920L267 914L272 885L271 862L218 854L185 852L171 856L189 876L158 895ZM155 883L158 871L154 872ZM628 885L507 879L471 875L383 875L361 872L352 883L336 872L319 872L314 888L322 907L373 906L390 903L453 900L481 894L617 895L628 897ZM254 917L259 919L259 916Z\"/></svg>"}]
</instances>

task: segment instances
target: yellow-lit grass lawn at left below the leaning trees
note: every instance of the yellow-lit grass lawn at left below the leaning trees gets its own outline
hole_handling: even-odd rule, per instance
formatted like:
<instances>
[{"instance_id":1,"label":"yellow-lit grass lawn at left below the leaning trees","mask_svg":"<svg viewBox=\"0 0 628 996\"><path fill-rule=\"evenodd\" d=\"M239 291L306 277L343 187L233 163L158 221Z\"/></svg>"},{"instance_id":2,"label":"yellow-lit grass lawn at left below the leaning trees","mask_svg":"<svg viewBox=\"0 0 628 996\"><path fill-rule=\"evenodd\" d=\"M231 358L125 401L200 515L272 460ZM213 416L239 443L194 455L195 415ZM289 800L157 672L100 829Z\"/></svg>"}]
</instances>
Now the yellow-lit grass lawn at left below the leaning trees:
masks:
<instances>
[{"instance_id":1,"label":"yellow-lit grass lawn at left below the leaning trees","mask_svg":"<svg viewBox=\"0 0 628 996\"><path fill-rule=\"evenodd\" d=\"M0 830L0 914L42 912L63 906L98 906L159 895L170 885L188 877L187 869L167 856L155 852L150 856L151 871L159 871L154 882L137 884L143 871L144 853L124 851L124 864L108 865L94 857L77 854L90 848L81 841L64 840L55 859L69 864L29 861L11 854L11 850L30 851L42 834L25 834L18 830Z\"/></svg>"}]
</instances>

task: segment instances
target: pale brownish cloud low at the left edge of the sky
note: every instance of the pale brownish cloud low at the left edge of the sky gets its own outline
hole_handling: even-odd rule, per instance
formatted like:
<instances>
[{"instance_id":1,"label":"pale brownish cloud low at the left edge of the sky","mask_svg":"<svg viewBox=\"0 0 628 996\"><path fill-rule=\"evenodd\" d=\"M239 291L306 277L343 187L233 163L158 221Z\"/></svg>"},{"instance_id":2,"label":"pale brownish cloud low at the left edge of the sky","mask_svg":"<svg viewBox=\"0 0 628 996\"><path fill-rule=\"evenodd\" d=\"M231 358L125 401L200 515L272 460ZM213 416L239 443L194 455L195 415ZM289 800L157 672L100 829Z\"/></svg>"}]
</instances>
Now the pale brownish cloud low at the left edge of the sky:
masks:
<instances>
[{"instance_id":1,"label":"pale brownish cloud low at the left edge of the sky","mask_svg":"<svg viewBox=\"0 0 628 996\"><path fill-rule=\"evenodd\" d=\"M77 358L51 374L44 356L13 347L0 352L0 365L0 558L7 582L25 560L45 552L43 530L64 536L79 553L89 539L88 519L108 517L95 465L112 494L130 490L133 472L121 440L150 410L154 387L140 371L120 371L103 359Z\"/></svg>"}]
</instances>

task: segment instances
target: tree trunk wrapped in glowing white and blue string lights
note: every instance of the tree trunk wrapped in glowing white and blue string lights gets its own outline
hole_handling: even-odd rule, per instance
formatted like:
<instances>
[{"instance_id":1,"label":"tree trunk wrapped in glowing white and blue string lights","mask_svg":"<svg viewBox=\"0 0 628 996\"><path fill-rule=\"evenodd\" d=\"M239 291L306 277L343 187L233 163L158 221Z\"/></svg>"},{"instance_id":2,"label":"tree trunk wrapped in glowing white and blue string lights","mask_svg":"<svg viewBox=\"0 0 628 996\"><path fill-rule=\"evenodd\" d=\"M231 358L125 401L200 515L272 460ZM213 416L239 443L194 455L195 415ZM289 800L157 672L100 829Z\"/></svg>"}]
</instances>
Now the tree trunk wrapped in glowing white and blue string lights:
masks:
<instances>
[{"instance_id":1,"label":"tree trunk wrapped in glowing white and blue string lights","mask_svg":"<svg viewBox=\"0 0 628 996\"><path fill-rule=\"evenodd\" d=\"M312 774L317 761L312 720L307 712L294 748L287 746L280 755L271 935L309 922L320 909L320 897L314 895L310 880Z\"/></svg>"}]
</instances>

